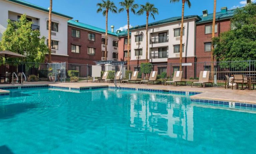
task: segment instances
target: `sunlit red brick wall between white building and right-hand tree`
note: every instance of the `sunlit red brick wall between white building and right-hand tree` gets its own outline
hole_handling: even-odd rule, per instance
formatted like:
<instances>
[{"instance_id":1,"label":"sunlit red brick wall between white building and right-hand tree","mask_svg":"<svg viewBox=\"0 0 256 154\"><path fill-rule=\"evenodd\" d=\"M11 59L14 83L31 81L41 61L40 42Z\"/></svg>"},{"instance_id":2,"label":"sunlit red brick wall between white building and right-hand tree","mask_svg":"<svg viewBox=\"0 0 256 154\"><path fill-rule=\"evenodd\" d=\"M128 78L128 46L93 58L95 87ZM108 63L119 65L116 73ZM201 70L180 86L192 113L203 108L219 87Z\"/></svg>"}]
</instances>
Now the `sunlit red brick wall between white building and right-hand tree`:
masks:
<instances>
[{"instance_id":1,"label":"sunlit red brick wall between white building and right-hand tree","mask_svg":"<svg viewBox=\"0 0 256 154\"><path fill-rule=\"evenodd\" d=\"M212 22L197 24L196 25L196 56L197 62L211 61L211 52L204 51L204 43L212 41L212 34L205 34L205 26L210 25ZM215 36L219 36L221 32L230 29L230 20L216 21L218 24L218 31Z\"/></svg>"}]
</instances>

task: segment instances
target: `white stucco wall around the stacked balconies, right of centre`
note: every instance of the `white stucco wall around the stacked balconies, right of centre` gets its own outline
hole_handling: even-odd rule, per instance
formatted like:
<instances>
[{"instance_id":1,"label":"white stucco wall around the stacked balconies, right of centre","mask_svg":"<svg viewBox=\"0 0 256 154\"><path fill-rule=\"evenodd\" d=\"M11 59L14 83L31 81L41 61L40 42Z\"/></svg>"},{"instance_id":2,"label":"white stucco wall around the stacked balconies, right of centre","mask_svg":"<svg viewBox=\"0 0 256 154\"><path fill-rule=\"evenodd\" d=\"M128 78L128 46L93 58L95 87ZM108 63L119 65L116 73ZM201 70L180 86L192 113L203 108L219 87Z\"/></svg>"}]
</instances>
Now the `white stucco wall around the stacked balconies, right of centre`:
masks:
<instances>
[{"instance_id":1,"label":"white stucco wall around the stacked balconies, right of centre","mask_svg":"<svg viewBox=\"0 0 256 154\"><path fill-rule=\"evenodd\" d=\"M167 47L168 50L168 58L175 58L180 57L179 53L174 53L174 45L180 44L180 37L174 37L174 29L181 28L181 21L157 25L149 27L149 37L148 37L148 58L150 58L150 51L158 51L160 47ZM184 20L184 36L183 36L183 44L184 44L184 53L183 57L192 57L195 56L195 19L188 19ZM158 33L167 32L167 36L169 37L168 42L164 43L156 43L150 44L151 38L158 38ZM135 36L142 34L143 41L142 42L135 42ZM143 49L143 55L140 56L140 59L146 59L146 28L132 30L131 35L132 41L132 49L131 49L131 60L137 60L138 57L135 56L135 49ZM159 58L159 59L152 59L151 62L165 62L167 58Z\"/></svg>"}]
</instances>

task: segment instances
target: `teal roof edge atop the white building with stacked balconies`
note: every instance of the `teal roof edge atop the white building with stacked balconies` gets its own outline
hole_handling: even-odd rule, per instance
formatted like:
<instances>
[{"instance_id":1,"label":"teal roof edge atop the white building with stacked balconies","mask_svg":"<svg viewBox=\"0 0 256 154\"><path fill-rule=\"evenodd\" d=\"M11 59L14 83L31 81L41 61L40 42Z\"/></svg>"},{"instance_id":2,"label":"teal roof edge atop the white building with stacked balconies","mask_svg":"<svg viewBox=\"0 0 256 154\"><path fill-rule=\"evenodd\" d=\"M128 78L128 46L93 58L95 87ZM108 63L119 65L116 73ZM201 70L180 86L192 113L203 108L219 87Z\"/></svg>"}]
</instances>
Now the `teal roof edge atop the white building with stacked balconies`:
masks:
<instances>
[{"instance_id":1,"label":"teal roof edge atop the white building with stacked balconies","mask_svg":"<svg viewBox=\"0 0 256 154\"><path fill-rule=\"evenodd\" d=\"M184 19L190 19L190 18L198 18L198 20L201 19L198 15L184 16ZM148 26L149 27L150 26L156 26L156 25L165 24L165 23L169 23L169 22L180 21L180 20L181 20L181 16L180 17L171 17L171 18L168 18L168 19L164 19L164 20L149 23ZM131 30L140 29L140 28L144 28L144 27L146 27L146 24L141 25L141 26L133 27L133 28L131 28Z\"/></svg>"}]
</instances>

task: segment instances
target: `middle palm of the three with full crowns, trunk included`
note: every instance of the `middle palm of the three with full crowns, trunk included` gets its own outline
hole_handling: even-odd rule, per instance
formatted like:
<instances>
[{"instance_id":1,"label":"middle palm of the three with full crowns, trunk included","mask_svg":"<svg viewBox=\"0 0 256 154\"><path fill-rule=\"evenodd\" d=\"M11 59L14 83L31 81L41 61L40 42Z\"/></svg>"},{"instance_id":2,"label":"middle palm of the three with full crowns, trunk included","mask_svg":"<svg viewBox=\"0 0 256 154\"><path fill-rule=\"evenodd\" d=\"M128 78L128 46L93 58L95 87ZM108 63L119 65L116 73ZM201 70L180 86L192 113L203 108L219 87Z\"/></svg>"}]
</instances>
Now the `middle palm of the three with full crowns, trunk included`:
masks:
<instances>
[{"instance_id":1,"label":"middle palm of the three with full crowns, trunk included","mask_svg":"<svg viewBox=\"0 0 256 154\"><path fill-rule=\"evenodd\" d=\"M135 14L135 9L137 9L139 7L138 4L134 4L134 0L123 0L121 2L119 2L119 4L121 5L122 8L120 8L118 10L118 12L123 12L124 9L127 12L127 35L128 35L128 40L127 40L127 54L128 54L128 62L127 65L130 65L130 19L129 19L129 11L131 9L131 12L133 12ZM127 68L129 70L129 67Z\"/></svg>"}]
</instances>

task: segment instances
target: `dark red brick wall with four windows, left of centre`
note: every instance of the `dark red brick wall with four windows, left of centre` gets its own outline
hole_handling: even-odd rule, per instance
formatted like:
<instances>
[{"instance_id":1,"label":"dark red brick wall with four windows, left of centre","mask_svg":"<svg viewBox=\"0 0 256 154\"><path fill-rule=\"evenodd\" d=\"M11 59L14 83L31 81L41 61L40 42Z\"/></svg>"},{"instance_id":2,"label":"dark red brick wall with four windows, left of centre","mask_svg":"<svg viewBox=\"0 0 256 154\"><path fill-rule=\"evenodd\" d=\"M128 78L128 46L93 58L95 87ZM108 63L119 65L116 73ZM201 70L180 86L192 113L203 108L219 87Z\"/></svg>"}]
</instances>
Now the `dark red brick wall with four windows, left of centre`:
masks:
<instances>
[{"instance_id":1,"label":"dark red brick wall with four windows, left of centre","mask_svg":"<svg viewBox=\"0 0 256 154\"><path fill-rule=\"evenodd\" d=\"M72 29L80 30L80 38L72 37ZM95 41L88 40L88 33L95 34ZM69 63L95 64L93 61L101 60L101 34L68 26L67 36L67 54L69 55ZM80 46L80 53L71 52L72 44ZM95 55L88 55L88 47L95 48Z\"/></svg>"}]
</instances>

